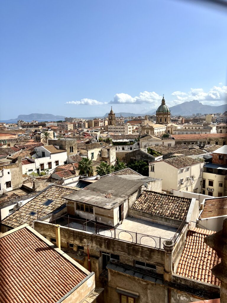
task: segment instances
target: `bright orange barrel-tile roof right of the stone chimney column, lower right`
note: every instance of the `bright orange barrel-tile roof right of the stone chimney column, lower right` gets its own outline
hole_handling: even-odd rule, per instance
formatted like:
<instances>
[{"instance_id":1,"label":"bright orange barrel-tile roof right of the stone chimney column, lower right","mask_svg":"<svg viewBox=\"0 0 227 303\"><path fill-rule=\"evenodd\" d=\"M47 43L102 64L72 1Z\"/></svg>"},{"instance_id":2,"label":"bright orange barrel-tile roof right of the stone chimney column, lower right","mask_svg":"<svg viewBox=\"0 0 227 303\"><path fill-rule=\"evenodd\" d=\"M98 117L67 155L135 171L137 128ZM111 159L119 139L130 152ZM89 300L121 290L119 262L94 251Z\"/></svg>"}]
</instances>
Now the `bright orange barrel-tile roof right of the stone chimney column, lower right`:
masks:
<instances>
[{"instance_id":1,"label":"bright orange barrel-tile roof right of the stone chimney column, lower right","mask_svg":"<svg viewBox=\"0 0 227 303\"><path fill-rule=\"evenodd\" d=\"M212 268L221 262L217 253L204 242L215 231L193 228L187 232L186 242L176 271L177 275L220 286Z\"/></svg>"}]
</instances>

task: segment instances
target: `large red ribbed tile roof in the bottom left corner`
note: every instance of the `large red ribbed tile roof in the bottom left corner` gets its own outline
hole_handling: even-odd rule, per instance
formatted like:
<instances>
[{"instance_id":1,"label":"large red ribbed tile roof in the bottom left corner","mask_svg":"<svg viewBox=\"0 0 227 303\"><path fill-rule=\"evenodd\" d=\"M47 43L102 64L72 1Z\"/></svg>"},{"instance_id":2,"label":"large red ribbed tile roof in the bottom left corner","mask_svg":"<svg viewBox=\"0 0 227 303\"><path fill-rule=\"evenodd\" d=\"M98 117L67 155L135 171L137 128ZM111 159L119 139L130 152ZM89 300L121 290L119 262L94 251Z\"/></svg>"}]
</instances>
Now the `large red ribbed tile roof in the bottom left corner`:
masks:
<instances>
[{"instance_id":1,"label":"large red ribbed tile roof in the bottom left corner","mask_svg":"<svg viewBox=\"0 0 227 303\"><path fill-rule=\"evenodd\" d=\"M87 274L24 227L0 237L0 302L56 303Z\"/></svg>"}]
</instances>

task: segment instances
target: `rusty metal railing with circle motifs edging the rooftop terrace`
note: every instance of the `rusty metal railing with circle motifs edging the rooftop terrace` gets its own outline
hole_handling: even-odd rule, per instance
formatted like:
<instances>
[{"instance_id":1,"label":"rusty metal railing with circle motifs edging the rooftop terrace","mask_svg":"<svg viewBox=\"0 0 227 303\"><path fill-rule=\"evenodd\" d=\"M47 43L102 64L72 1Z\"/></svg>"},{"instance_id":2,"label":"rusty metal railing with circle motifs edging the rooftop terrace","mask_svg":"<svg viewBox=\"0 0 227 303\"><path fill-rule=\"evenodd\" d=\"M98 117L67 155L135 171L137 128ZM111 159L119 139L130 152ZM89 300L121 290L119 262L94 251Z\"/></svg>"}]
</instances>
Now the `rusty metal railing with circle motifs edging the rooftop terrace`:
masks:
<instances>
[{"instance_id":1,"label":"rusty metal railing with circle motifs edging the rooftop terrace","mask_svg":"<svg viewBox=\"0 0 227 303\"><path fill-rule=\"evenodd\" d=\"M186 225L186 222L183 221L174 236L172 238L167 239L153 235L141 234L137 231L128 231L107 225L101 225L97 223L97 218L87 220L84 218L70 217L69 215L60 216L55 214L47 214L42 211L37 211L37 220L48 221L52 224L59 224L68 228L74 228L81 231L89 232L94 235L126 241L129 243L139 244L160 250L164 250L163 241L165 240L172 240L175 244L177 239L181 235L184 226Z\"/></svg>"}]
</instances>

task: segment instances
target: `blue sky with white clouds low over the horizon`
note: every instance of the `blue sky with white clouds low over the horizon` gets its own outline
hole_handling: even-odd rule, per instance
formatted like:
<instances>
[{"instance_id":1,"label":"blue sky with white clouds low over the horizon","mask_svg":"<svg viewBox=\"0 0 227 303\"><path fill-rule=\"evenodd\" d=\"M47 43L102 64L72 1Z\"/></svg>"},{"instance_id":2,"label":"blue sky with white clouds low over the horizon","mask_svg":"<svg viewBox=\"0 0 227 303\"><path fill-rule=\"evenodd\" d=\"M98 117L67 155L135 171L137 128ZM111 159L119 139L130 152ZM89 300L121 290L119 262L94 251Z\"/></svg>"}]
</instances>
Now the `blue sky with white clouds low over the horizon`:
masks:
<instances>
[{"instance_id":1,"label":"blue sky with white clouds low over the horizon","mask_svg":"<svg viewBox=\"0 0 227 303\"><path fill-rule=\"evenodd\" d=\"M2 1L0 120L144 113L163 93L224 104L226 15L179 0Z\"/></svg>"}]
</instances>

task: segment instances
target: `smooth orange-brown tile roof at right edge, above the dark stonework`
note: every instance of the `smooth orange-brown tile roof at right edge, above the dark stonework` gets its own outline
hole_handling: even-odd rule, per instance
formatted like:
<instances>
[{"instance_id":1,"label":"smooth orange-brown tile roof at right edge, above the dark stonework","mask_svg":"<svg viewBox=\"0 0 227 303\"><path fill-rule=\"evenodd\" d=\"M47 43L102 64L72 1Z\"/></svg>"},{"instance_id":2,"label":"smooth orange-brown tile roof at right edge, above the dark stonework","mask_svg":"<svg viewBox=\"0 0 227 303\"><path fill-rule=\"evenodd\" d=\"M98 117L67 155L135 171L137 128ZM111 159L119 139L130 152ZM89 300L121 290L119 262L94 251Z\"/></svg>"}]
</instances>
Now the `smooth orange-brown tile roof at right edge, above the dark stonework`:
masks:
<instances>
[{"instance_id":1,"label":"smooth orange-brown tile roof at right edge, above the dark stonework","mask_svg":"<svg viewBox=\"0 0 227 303\"><path fill-rule=\"evenodd\" d=\"M201 218L227 215L227 197L205 199Z\"/></svg>"}]
</instances>

